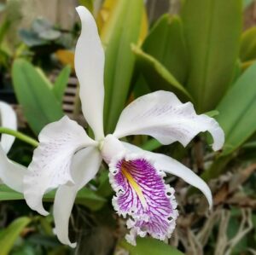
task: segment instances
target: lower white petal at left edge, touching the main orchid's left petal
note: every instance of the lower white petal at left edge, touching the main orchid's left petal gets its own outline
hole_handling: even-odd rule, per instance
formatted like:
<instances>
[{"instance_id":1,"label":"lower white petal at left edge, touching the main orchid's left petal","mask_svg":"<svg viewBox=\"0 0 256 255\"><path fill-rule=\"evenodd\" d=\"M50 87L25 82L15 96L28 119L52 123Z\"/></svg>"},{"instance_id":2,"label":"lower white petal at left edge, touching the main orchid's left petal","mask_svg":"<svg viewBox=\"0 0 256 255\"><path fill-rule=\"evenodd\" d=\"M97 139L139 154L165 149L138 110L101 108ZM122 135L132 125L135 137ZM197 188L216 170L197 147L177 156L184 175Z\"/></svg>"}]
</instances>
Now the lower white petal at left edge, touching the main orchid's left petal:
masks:
<instances>
[{"instance_id":1,"label":"lower white petal at left edge, touching the main orchid's left petal","mask_svg":"<svg viewBox=\"0 0 256 255\"><path fill-rule=\"evenodd\" d=\"M23 192L23 177L26 167L10 161L0 145L0 179L15 191Z\"/></svg>"}]
</instances>

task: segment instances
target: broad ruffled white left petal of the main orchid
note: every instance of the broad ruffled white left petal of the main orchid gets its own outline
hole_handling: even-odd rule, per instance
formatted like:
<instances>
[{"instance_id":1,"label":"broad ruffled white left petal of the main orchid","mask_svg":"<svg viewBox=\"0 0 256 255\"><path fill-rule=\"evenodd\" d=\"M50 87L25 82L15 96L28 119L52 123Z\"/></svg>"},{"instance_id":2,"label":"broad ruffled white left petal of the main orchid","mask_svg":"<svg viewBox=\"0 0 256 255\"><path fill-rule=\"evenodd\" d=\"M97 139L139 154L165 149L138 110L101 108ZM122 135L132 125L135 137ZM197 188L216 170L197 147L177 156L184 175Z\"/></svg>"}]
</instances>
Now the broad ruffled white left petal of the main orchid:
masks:
<instances>
[{"instance_id":1,"label":"broad ruffled white left petal of the main orchid","mask_svg":"<svg viewBox=\"0 0 256 255\"><path fill-rule=\"evenodd\" d=\"M70 174L73 154L97 143L67 116L46 125L38 140L39 146L34 151L32 163L24 177L24 197L33 210L47 215L42 203L44 193L60 185L73 183Z\"/></svg>"}]
</instances>

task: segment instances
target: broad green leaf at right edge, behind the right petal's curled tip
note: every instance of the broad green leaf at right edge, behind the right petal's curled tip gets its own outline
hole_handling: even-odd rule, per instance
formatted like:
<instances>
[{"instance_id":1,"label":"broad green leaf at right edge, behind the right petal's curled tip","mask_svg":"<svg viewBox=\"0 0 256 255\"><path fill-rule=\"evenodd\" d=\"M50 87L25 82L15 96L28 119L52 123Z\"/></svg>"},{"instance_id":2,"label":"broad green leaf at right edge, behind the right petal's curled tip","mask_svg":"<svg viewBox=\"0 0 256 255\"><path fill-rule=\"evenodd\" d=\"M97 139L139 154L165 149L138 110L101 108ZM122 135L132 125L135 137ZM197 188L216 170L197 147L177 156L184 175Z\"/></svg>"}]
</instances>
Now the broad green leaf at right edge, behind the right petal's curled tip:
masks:
<instances>
[{"instance_id":1,"label":"broad green leaf at right edge, behind the right petal's curled tip","mask_svg":"<svg viewBox=\"0 0 256 255\"><path fill-rule=\"evenodd\" d=\"M256 130L256 64L237 79L217 110L216 119L225 133L223 154L230 154Z\"/></svg>"}]
</instances>

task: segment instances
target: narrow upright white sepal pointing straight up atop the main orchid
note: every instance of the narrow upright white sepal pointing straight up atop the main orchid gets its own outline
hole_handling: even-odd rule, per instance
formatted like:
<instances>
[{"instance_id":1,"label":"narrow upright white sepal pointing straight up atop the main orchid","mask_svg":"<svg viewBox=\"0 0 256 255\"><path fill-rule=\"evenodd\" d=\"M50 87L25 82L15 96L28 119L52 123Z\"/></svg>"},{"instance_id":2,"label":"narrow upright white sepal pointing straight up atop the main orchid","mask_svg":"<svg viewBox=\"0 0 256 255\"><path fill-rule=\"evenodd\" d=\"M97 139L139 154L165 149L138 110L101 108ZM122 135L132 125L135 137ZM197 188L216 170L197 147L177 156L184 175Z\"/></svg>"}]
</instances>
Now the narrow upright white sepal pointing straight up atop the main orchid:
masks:
<instances>
[{"instance_id":1,"label":"narrow upright white sepal pointing straight up atop the main orchid","mask_svg":"<svg viewBox=\"0 0 256 255\"><path fill-rule=\"evenodd\" d=\"M94 131L96 140L104 137L104 50L98 35L96 21L90 11L77 8L82 32L75 50L75 70L80 83L80 98L84 117Z\"/></svg>"}]
</instances>

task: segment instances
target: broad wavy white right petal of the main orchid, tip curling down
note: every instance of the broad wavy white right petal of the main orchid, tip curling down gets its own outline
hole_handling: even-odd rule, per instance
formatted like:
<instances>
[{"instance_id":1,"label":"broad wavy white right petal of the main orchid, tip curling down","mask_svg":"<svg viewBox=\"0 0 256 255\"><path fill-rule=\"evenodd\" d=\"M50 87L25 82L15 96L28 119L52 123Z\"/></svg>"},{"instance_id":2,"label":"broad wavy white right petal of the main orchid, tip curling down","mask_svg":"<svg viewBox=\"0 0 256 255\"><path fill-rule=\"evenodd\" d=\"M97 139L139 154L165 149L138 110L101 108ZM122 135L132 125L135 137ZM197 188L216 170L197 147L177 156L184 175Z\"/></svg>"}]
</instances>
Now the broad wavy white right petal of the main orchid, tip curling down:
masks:
<instances>
[{"instance_id":1,"label":"broad wavy white right petal of the main orchid, tip curling down","mask_svg":"<svg viewBox=\"0 0 256 255\"><path fill-rule=\"evenodd\" d=\"M224 144L224 131L215 119L197 115L191 102L182 103L172 92L156 91L131 102L121 113L113 135L153 136L162 144L181 142L186 146L198 133L209 131L212 148Z\"/></svg>"}]
</instances>

